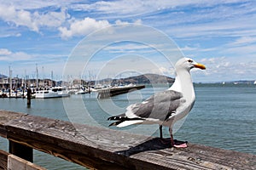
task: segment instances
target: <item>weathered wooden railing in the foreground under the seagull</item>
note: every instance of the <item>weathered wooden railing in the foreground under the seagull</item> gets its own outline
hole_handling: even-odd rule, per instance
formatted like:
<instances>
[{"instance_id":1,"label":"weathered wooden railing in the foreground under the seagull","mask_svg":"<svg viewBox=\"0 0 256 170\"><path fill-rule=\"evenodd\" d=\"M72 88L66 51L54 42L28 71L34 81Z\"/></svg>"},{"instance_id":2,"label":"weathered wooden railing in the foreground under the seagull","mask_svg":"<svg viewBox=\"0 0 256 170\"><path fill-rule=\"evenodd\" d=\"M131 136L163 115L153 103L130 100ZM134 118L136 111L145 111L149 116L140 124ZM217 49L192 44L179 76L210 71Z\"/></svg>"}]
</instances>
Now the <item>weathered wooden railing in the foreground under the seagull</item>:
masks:
<instances>
[{"instance_id":1,"label":"weathered wooden railing in the foreground under the seagull","mask_svg":"<svg viewBox=\"0 0 256 170\"><path fill-rule=\"evenodd\" d=\"M0 135L10 145L9 153L0 151L0 169L44 169L32 164L32 150L91 169L256 168L256 156L246 153L190 143L170 148L159 138L11 111L0 111Z\"/></svg>"}]
</instances>

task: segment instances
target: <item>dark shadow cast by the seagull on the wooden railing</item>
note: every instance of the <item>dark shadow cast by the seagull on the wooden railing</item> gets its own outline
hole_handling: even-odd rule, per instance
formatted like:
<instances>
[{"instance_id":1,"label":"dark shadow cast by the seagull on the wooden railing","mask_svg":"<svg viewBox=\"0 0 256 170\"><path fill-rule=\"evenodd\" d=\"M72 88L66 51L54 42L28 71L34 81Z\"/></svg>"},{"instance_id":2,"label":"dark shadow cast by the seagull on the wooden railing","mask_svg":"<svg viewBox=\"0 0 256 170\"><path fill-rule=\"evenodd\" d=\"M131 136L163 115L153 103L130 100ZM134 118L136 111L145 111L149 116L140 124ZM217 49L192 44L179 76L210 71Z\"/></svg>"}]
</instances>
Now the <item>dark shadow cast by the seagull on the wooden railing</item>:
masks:
<instances>
[{"instance_id":1,"label":"dark shadow cast by the seagull on the wooden railing","mask_svg":"<svg viewBox=\"0 0 256 170\"><path fill-rule=\"evenodd\" d=\"M184 143L183 141L175 140L176 143ZM164 150L167 148L172 148L171 139L160 139L154 138L149 139L142 144L137 144L132 146L128 150L120 150L115 153L122 156L132 156L140 152L149 151L149 150Z\"/></svg>"}]
</instances>

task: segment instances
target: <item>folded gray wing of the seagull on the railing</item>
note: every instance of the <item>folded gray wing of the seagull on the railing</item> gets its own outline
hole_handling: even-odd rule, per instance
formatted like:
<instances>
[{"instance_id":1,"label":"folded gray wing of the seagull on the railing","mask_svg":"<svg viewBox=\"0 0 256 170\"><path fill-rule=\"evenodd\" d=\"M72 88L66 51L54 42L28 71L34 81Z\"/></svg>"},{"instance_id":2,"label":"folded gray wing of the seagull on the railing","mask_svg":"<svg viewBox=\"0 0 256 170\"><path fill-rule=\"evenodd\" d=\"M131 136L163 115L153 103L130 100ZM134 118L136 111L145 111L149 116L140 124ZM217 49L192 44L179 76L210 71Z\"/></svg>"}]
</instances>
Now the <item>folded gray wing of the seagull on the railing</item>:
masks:
<instances>
[{"instance_id":1,"label":"folded gray wing of the seagull on the railing","mask_svg":"<svg viewBox=\"0 0 256 170\"><path fill-rule=\"evenodd\" d=\"M166 90L152 95L141 104L131 105L130 110L137 117L143 119L153 118L165 121L175 113L178 106L183 102L183 94L173 90Z\"/></svg>"}]
</instances>

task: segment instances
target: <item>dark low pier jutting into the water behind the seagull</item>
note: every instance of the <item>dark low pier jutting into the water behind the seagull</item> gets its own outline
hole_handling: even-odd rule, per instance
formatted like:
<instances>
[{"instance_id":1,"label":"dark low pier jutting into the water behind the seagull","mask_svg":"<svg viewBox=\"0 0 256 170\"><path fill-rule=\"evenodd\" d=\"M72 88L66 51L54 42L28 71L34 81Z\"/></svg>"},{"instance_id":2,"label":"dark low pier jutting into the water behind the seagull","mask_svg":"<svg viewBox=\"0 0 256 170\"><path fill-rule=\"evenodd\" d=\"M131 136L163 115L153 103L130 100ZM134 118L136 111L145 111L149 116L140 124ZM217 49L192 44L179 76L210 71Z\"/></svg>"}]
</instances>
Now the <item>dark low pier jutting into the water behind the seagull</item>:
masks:
<instances>
[{"instance_id":1,"label":"dark low pier jutting into the water behind the seagull","mask_svg":"<svg viewBox=\"0 0 256 170\"><path fill-rule=\"evenodd\" d=\"M98 99L105 99L109 97L113 97L119 94L127 94L129 92L133 92L135 90L139 90L145 88L145 85L138 86L128 86L128 87L120 87L120 88L106 88L98 90Z\"/></svg>"}]
</instances>

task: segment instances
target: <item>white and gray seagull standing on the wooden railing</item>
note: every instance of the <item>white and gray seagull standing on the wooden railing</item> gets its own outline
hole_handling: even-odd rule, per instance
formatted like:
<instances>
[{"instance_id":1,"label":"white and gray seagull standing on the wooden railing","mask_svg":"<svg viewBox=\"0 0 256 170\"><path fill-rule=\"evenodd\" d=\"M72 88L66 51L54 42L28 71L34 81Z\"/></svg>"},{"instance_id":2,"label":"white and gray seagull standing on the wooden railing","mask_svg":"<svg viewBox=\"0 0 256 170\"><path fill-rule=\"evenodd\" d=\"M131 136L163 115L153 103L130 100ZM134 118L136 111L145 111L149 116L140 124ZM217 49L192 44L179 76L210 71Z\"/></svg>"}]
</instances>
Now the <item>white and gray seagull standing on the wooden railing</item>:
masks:
<instances>
[{"instance_id":1,"label":"white and gray seagull standing on the wooden railing","mask_svg":"<svg viewBox=\"0 0 256 170\"><path fill-rule=\"evenodd\" d=\"M171 88L156 93L142 103L129 105L124 114L108 117L108 121L115 121L109 126L126 127L134 124L159 124L160 139L162 126L169 127L171 144L174 147L187 147L186 144L175 144L172 126L175 122L189 114L195 103L195 91L190 70L206 66L193 59L178 59L175 65L176 78Z\"/></svg>"}]
</instances>

